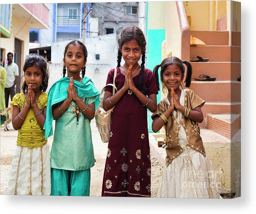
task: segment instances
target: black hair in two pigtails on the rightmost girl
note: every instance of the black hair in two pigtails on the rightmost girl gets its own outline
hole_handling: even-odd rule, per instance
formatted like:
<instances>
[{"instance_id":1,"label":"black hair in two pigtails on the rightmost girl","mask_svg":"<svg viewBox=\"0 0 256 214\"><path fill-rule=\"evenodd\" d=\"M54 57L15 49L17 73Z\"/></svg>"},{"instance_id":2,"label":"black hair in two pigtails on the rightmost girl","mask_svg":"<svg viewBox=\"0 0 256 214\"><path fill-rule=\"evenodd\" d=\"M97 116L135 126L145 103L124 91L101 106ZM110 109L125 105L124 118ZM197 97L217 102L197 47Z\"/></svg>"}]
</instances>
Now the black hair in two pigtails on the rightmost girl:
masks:
<instances>
[{"instance_id":1,"label":"black hair in two pigtails on the rightmost girl","mask_svg":"<svg viewBox=\"0 0 256 214\"><path fill-rule=\"evenodd\" d=\"M191 64L187 61L181 61L178 57L176 56L171 56L171 57L167 57L165 58L161 64L156 65L153 72L155 75L155 79L156 79L156 86L157 86L157 90L160 90L160 85L159 85L159 80L158 80L158 68L161 67L161 71L160 71L160 78L161 78L161 82L162 82L162 91L164 89L164 85L163 85L163 72L165 71L165 69L169 66L175 64L177 66L179 66L181 74L182 74L182 80L184 78L185 75L185 67L183 64L185 64L187 66L187 75L186 75L186 87L189 87L191 84L191 76L192 76L192 67Z\"/></svg>"}]
</instances>

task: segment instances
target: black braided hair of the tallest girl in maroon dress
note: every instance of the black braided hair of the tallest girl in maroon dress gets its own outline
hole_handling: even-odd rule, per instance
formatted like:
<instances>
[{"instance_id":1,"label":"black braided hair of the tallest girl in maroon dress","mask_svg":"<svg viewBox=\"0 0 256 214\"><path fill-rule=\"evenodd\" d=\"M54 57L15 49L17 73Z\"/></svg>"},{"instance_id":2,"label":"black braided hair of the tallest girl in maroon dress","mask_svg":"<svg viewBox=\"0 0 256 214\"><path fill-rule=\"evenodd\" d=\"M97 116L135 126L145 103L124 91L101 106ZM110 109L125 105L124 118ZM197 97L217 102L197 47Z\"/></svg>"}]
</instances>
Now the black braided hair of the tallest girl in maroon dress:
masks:
<instances>
[{"instance_id":1,"label":"black braided hair of the tallest girl in maroon dress","mask_svg":"<svg viewBox=\"0 0 256 214\"><path fill-rule=\"evenodd\" d=\"M137 43L141 46L141 72L139 73L139 82L138 82L138 88L142 91L146 91L146 87L144 86L145 81L145 53L146 53L146 39L142 32L142 30L137 26L129 26L125 27L122 32L120 33L120 36L118 38L118 55L117 55L117 67L120 67L120 63L122 60L122 46L126 41L131 41L133 39L136 39Z\"/></svg>"}]
</instances>

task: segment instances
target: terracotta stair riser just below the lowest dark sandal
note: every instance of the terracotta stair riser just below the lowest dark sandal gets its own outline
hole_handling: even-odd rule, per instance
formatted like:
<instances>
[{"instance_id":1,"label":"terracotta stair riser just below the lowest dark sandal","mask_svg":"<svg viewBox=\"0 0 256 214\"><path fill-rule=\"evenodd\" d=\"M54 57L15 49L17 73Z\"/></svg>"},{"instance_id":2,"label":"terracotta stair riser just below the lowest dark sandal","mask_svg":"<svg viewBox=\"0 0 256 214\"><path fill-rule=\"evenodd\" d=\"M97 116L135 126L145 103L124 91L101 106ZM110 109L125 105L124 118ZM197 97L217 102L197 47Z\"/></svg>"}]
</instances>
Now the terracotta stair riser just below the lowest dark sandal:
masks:
<instances>
[{"instance_id":1,"label":"terracotta stair riser just below the lowest dark sandal","mask_svg":"<svg viewBox=\"0 0 256 214\"><path fill-rule=\"evenodd\" d=\"M191 81L189 88L208 102L241 101L241 82L238 81Z\"/></svg>"}]
</instances>

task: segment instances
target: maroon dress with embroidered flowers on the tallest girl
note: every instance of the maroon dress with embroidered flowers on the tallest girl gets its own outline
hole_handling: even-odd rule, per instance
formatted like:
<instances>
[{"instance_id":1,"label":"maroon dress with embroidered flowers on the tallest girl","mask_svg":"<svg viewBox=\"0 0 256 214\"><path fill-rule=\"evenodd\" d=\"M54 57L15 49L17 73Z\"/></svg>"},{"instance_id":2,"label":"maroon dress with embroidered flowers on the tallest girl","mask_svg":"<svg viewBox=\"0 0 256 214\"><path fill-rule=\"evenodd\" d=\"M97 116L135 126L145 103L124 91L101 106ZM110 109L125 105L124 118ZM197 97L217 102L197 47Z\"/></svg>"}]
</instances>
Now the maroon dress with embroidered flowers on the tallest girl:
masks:
<instances>
[{"instance_id":1,"label":"maroon dress with embroidered flowers on the tallest girl","mask_svg":"<svg viewBox=\"0 0 256 214\"><path fill-rule=\"evenodd\" d=\"M113 83L114 69L107 84ZM117 68L115 85L124 86L125 76ZM139 75L133 78L137 87ZM157 94L153 72L145 68L146 95ZM112 87L105 91L112 93ZM129 93L128 93L129 92ZM127 91L112 114L110 140L105 164L102 196L151 197L151 162L148 140L147 108L134 93Z\"/></svg>"}]
</instances>

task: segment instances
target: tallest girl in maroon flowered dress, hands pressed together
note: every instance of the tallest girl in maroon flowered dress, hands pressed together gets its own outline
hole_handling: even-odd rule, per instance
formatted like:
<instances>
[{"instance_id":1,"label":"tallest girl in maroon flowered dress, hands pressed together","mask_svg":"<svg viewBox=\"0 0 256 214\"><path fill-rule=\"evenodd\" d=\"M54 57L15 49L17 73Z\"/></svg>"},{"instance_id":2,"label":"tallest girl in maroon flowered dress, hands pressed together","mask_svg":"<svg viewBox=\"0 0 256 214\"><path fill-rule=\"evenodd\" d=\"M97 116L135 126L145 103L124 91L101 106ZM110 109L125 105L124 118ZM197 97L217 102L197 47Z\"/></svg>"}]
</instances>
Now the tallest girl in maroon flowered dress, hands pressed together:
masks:
<instances>
[{"instance_id":1,"label":"tallest girl in maroon flowered dress, hands pressed together","mask_svg":"<svg viewBox=\"0 0 256 214\"><path fill-rule=\"evenodd\" d=\"M156 77L144 68L146 39L139 27L126 27L118 43L118 91L112 96L113 89L108 86L103 98L105 111L115 108L101 195L151 197L147 108L156 110ZM121 66L122 57L125 63ZM108 73L107 84L113 83L114 71Z\"/></svg>"}]
</instances>

